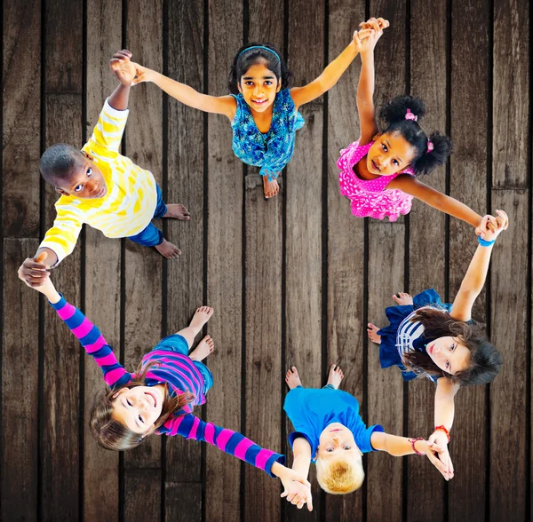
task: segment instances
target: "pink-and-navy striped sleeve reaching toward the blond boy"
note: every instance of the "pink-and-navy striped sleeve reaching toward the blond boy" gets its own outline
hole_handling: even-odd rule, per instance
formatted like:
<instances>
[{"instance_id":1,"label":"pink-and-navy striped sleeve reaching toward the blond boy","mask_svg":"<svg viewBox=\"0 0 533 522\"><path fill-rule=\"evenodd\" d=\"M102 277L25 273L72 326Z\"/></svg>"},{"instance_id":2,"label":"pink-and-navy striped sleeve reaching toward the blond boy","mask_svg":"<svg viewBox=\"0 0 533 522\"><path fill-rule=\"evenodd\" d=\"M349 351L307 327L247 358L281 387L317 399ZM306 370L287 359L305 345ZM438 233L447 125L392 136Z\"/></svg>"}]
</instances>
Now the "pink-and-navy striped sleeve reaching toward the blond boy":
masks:
<instances>
[{"instance_id":1,"label":"pink-and-navy striped sleeve reaching toward the blond boy","mask_svg":"<svg viewBox=\"0 0 533 522\"><path fill-rule=\"evenodd\" d=\"M270 449L263 449L250 439L246 439L241 433L220 428L213 423L204 423L195 415L179 415L172 417L170 421L158 431L165 435L181 435L186 439L203 440L220 451L234 455L238 459L266 471L270 477L272 465L275 462L285 463L285 457Z\"/></svg>"}]
</instances>

